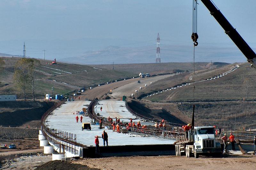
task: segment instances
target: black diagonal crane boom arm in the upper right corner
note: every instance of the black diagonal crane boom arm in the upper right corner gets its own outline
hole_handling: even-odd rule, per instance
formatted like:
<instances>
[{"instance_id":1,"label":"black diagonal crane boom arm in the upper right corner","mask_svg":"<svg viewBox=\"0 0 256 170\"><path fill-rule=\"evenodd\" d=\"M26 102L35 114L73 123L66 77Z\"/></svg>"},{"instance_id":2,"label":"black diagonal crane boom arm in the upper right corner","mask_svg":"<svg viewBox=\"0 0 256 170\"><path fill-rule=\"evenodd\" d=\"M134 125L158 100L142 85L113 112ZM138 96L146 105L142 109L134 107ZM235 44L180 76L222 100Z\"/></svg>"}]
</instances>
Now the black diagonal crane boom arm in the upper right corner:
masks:
<instances>
[{"instance_id":1,"label":"black diagonal crane boom arm in the upper right corner","mask_svg":"<svg viewBox=\"0 0 256 170\"><path fill-rule=\"evenodd\" d=\"M220 10L212 3L211 0L201 0L211 15L217 20L220 26L225 30L230 39L236 44L240 51L245 55L247 61L251 63L252 67L256 68L256 54L252 48L244 41L236 29L228 22L227 18L220 12Z\"/></svg>"}]
</instances>

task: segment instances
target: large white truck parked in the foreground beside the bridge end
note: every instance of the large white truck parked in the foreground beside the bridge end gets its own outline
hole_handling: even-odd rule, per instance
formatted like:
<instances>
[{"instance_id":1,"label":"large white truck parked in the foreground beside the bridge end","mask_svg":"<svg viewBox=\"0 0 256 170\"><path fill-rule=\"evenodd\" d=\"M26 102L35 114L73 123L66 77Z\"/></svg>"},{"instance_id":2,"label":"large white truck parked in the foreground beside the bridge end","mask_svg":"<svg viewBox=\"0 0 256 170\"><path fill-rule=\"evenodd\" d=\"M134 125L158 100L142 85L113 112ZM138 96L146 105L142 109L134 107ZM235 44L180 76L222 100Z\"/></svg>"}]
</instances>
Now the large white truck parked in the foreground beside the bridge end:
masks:
<instances>
[{"instance_id":1,"label":"large white truck parked in the foreground beside the bridge end","mask_svg":"<svg viewBox=\"0 0 256 170\"><path fill-rule=\"evenodd\" d=\"M188 137L180 137L175 144L176 156L198 158L199 155L222 157L220 143L215 140L212 126L194 127L188 131Z\"/></svg>"}]
</instances>

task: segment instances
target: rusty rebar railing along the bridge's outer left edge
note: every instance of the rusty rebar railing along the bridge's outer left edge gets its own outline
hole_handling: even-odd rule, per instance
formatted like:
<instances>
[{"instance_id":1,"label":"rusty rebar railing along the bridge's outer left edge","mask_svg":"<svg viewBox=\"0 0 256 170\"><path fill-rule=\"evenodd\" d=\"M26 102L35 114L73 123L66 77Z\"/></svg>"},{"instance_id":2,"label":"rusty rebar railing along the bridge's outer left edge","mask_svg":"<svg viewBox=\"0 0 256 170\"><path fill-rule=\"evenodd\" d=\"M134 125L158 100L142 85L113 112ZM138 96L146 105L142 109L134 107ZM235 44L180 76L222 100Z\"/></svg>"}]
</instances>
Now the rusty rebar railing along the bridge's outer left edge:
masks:
<instances>
[{"instance_id":1,"label":"rusty rebar railing along the bridge's outer left edge","mask_svg":"<svg viewBox=\"0 0 256 170\"><path fill-rule=\"evenodd\" d=\"M60 107L60 105L62 105L63 103L64 101L60 101L54 104L50 109L48 109L44 113L44 115L41 118L41 130L44 136L47 138L47 140L51 142L53 145L60 147L62 145L62 147L64 147L65 150L75 153L75 155L77 155L79 150L78 146L84 148L86 147L86 145L80 144L76 141L76 134L60 131L57 129L51 129L45 125L45 120L47 116L49 116L53 110Z\"/></svg>"}]
</instances>

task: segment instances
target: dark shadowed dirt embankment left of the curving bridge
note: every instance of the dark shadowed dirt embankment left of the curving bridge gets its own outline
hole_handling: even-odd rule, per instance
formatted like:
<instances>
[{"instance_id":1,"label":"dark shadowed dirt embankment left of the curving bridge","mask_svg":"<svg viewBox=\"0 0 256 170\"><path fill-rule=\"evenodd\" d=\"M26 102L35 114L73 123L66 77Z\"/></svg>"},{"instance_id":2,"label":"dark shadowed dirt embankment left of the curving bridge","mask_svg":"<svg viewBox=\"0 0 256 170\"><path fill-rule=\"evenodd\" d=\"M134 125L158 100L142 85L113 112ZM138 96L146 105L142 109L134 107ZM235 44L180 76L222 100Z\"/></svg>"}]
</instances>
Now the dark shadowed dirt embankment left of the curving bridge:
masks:
<instances>
[{"instance_id":1,"label":"dark shadowed dirt embankment left of the curving bridge","mask_svg":"<svg viewBox=\"0 0 256 170\"><path fill-rule=\"evenodd\" d=\"M0 125L40 127L41 117L54 105L50 101L1 101Z\"/></svg>"}]
</instances>

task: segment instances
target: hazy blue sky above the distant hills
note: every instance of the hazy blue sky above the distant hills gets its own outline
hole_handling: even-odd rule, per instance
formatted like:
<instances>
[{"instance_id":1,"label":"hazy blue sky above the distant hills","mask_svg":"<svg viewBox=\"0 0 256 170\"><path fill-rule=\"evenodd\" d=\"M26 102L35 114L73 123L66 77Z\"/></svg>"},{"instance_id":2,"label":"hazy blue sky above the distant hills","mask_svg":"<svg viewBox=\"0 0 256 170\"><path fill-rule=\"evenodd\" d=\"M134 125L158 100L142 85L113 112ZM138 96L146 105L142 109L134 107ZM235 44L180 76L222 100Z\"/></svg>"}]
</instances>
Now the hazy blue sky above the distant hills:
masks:
<instances>
[{"instance_id":1,"label":"hazy blue sky above the distant hills","mask_svg":"<svg viewBox=\"0 0 256 170\"><path fill-rule=\"evenodd\" d=\"M247 43L256 47L256 1L214 0ZM198 1L199 46L235 45ZM108 46L192 45L192 0L1 0L0 53L67 58ZM246 61L237 52L237 61ZM239 57L240 56L240 57ZM225 59L221 59L223 61ZM167 60L166 60L167 61ZM199 59L200 61L200 59Z\"/></svg>"}]
</instances>

